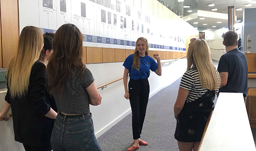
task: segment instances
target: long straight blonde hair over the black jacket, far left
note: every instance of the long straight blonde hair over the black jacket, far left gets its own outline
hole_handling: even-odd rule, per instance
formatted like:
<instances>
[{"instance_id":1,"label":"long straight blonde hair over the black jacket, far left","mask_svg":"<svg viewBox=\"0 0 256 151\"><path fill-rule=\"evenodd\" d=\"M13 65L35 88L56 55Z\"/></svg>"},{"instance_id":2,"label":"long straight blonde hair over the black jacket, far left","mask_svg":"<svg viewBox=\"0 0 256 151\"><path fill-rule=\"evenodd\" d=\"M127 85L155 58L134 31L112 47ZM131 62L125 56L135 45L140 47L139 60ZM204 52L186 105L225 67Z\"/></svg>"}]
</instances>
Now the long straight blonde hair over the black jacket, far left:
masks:
<instances>
[{"instance_id":1,"label":"long straight blonde hair over the black jacket, far left","mask_svg":"<svg viewBox=\"0 0 256 151\"><path fill-rule=\"evenodd\" d=\"M19 36L18 51L6 70L11 97L23 97L28 90L30 72L43 47L43 34L37 27L26 26Z\"/></svg>"}]
</instances>

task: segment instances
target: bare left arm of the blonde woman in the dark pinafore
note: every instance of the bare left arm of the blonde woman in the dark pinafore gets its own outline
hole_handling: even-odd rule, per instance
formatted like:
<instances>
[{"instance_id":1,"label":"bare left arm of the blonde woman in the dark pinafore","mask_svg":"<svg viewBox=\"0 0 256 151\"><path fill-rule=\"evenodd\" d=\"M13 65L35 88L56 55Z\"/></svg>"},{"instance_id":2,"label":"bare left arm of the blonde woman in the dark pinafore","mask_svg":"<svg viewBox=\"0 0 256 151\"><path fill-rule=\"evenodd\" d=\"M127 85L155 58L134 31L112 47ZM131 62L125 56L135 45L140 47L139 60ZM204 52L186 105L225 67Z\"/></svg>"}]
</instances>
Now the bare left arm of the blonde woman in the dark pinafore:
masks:
<instances>
[{"instance_id":1,"label":"bare left arm of the blonde woman in the dark pinafore","mask_svg":"<svg viewBox=\"0 0 256 151\"><path fill-rule=\"evenodd\" d=\"M183 109L183 106L185 104L185 101L188 97L188 90L185 90L183 88L179 88L178 96L176 99L176 102L174 104L174 117L175 119L178 118L178 115L181 113L181 110Z\"/></svg>"}]
</instances>

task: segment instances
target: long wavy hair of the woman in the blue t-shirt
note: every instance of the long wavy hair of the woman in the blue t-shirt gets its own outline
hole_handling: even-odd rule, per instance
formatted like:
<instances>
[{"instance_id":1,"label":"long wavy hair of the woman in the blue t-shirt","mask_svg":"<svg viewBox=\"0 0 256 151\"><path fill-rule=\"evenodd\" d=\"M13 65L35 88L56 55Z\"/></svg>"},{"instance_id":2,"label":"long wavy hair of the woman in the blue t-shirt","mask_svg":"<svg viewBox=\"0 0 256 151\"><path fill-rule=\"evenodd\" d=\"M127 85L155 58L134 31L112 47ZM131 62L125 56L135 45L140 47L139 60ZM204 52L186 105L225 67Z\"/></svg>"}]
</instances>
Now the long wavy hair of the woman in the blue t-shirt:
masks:
<instances>
[{"instance_id":1,"label":"long wavy hair of the woman in the blue t-shirt","mask_svg":"<svg viewBox=\"0 0 256 151\"><path fill-rule=\"evenodd\" d=\"M139 67L140 67L140 59L139 59L139 51L137 50L137 45L138 45L138 41L142 40L143 43L145 43L146 45L146 52L145 54L148 55L148 43L147 43L147 39L143 38L143 37L139 37L136 41L136 45L135 45L135 51L133 54L133 63L132 63L132 68L136 68L136 70L139 71Z\"/></svg>"}]
</instances>

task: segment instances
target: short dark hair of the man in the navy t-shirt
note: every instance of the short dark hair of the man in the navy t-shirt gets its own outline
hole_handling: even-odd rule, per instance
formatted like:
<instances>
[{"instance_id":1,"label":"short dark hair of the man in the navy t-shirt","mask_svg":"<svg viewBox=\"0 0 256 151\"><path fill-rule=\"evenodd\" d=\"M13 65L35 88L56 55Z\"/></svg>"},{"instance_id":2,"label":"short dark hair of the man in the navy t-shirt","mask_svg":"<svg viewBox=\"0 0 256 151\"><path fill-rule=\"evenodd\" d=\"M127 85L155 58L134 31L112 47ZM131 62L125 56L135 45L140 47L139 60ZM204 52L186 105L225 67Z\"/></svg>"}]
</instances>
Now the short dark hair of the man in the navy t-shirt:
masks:
<instances>
[{"instance_id":1,"label":"short dark hair of the man in the navy t-shirt","mask_svg":"<svg viewBox=\"0 0 256 151\"><path fill-rule=\"evenodd\" d=\"M230 30L224 34L223 39L226 47L237 46L237 40L238 40L237 32Z\"/></svg>"}]
</instances>

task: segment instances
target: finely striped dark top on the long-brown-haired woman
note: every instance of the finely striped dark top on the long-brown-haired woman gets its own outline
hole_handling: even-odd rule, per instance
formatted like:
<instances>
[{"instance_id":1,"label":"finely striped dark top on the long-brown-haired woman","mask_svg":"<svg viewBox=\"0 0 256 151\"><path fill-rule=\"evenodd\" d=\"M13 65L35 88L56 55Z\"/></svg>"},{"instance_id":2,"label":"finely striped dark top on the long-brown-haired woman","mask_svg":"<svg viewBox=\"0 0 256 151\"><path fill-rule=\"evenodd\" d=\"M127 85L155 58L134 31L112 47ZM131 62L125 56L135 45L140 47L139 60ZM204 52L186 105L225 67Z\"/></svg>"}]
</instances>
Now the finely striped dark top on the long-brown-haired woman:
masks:
<instances>
[{"instance_id":1,"label":"finely striped dark top on the long-brown-haired woman","mask_svg":"<svg viewBox=\"0 0 256 151\"><path fill-rule=\"evenodd\" d=\"M47 75L47 82L48 86L52 83L52 79L49 75ZM72 68L70 77L65 83L62 95L59 96L56 93L56 88L53 88L52 90L58 111L66 114L90 113L90 97L86 88L93 82L94 78L88 68L84 70L82 77L79 74L79 69Z\"/></svg>"}]
</instances>

